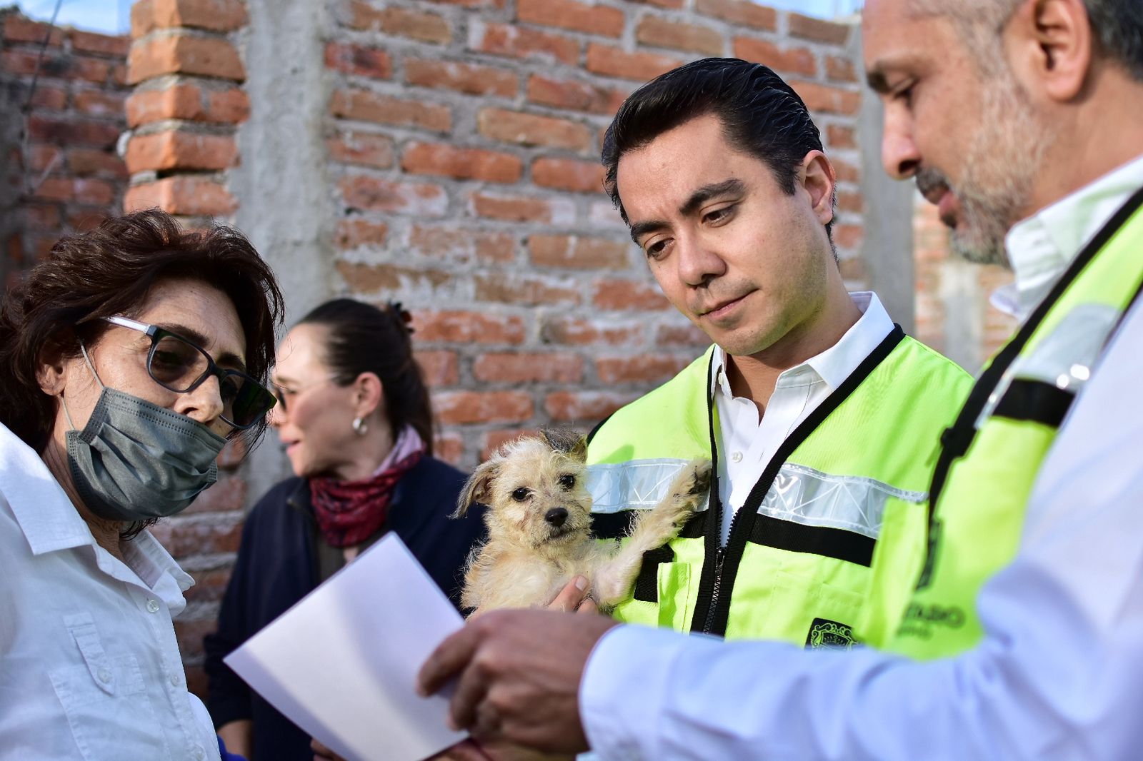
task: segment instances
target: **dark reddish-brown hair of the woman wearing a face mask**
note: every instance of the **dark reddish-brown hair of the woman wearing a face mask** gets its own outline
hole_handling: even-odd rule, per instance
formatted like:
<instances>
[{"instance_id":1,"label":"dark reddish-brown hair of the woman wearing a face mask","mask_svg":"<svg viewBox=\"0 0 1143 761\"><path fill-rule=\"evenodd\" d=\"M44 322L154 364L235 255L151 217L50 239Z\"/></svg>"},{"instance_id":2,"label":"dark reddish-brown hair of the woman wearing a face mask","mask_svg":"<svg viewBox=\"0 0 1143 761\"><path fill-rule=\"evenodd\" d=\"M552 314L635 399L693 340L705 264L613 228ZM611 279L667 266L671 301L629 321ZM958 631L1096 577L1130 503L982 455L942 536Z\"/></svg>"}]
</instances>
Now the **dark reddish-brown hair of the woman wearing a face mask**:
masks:
<instances>
[{"instance_id":1,"label":"dark reddish-brown hair of the woman wearing a face mask","mask_svg":"<svg viewBox=\"0 0 1143 761\"><path fill-rule=\"evenodd\" d=\"M40 365L80 355L107 329L98 318L137 315L162 280L201 280L234 304L246 336L247 373L265 383L282 296L273 272L242 233L217 225L184 231L158 209L105 219L65 235L9 291L0 307L0 423L43 451L56 401L37 380ZM256 442L265 423L242 432Z\"/></svg>"}]
</instances>

